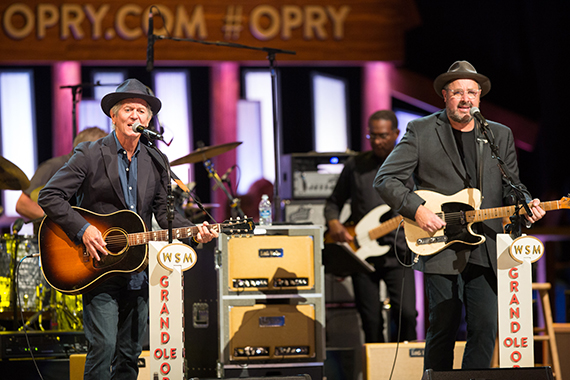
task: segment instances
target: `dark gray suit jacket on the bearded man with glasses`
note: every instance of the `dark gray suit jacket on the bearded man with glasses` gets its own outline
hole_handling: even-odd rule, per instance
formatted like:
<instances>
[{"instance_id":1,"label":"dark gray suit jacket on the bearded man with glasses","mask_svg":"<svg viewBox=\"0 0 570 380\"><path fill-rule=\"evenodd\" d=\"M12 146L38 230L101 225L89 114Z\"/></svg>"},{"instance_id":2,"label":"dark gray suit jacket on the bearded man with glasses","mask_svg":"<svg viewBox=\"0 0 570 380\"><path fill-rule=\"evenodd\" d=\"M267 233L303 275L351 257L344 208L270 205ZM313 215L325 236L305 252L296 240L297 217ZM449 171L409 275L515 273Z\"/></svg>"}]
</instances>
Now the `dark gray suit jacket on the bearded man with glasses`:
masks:
<instances>
[{"instance_id":1,"label":"dark gray suit jacket on the bearded man with glasses","mask_svg":"<svg viewBox=\"0 0 570 380\"><path fill-rule=\"evenodd\" d=\"M517 156L512 131L499 123L489 122L499 154L511 173L513 182L520 184ZM492 158L491 149L477 128L477 156L482 158L481 209L501 207L512 203L512 191L503 180ZM479 146L482 145L482 154ZM400 143L379 169L374 187L390 207L406 218L415 219L417 208L424 200L404 184L412 176L415 190L431 190L453 195L466 187L467 173L459 155L453 131L445 110L416 119L408 124ZM481 177L478 173L478 177ZM479 183L479 181L478 181ZM526 190L527 201L531 196ZM496 234L502 231L501 219L483 222L487 250L493 268L497 269ZM459 245L462 247L462 245ZM457 248L457 245L456 245ZM470 250L454 249L452 245L435 255L422 256L415 269L426 273L458 274L469 261Z\"/></svg>"}]
</instances>

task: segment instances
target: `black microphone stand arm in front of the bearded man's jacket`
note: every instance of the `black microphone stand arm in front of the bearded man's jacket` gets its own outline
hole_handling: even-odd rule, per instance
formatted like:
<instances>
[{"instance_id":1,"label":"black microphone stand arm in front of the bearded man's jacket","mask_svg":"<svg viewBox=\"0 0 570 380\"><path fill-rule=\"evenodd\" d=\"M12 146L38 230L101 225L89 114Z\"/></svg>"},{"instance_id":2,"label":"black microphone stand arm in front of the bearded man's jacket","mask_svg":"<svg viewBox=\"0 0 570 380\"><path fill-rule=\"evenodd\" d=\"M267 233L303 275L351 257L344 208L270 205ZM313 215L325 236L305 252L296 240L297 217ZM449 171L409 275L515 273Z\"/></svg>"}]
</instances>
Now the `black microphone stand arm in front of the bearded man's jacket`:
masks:
<instances>
[{"instance_id":1,"label":"black microphone stand arm in front of the bearded man's jacket","mask_svg":"<svg viewBox=\"0 0 570 380\"><path fill-rule=\"evenodd\" d=\"M514 238L517 238L522 235L522 221L523 217L520 215L521 208L524 208L528 216L532 216L532 211L525 199L525 195L520 188L520 185L515 185L513 183L513 179L507 166L503 159L499 155L499 147L495 144L495 136L493 135L493 131L488 126L484 126L483 124L477 121L477 125L479 125L480 131L485 135L485 138L489 142L489 147L491 148L492 158L498 161L497 166L501 171L501 175L507 181L508 185L513 190L513 193L516 197L516 204L515 204L515 213L509 217L511 223L505 227L505 230L509 232ZM483 190L483 189L481 189Z\"/></svg>"}]
</instances>

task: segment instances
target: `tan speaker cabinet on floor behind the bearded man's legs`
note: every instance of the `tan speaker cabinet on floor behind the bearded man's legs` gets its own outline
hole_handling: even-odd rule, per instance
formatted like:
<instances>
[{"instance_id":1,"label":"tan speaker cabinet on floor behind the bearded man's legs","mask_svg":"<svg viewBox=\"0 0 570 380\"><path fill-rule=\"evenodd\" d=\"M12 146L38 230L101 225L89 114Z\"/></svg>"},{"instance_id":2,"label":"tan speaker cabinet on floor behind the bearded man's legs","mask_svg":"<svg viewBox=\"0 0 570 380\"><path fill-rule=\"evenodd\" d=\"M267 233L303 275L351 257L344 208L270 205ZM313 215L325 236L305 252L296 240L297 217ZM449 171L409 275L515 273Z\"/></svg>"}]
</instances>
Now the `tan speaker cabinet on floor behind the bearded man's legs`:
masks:
<instances>
[{"instance_id":1,"label":"tan speaker cabinet on floor behind the bearded man's legs","mask_svg":"<svg viewBox=\"0 0 570 380\"><path fill-rule=\"evenodd\" d=\"M420 379L424 370L424 342L367 343L364 345L364 379L388 380L396 360L393 379ZM455 342L453 368L461 368L465 342Z\"/></svg>"}]
</instances>

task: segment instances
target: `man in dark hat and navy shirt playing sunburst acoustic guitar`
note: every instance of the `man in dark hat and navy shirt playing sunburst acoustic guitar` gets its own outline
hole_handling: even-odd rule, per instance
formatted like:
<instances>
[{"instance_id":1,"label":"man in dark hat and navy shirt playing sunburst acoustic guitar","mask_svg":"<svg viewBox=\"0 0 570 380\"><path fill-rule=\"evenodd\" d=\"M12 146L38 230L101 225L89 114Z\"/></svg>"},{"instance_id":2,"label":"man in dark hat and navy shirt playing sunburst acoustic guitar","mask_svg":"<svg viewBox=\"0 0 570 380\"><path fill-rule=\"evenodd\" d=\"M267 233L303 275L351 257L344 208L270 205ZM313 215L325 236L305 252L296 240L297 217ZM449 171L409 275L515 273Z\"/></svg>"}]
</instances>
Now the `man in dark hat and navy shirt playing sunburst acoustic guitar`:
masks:
<instances>
[{"instance_id":1,"label":"man in dark hat and navy shirt playing sunburst acoustic guitar","mask_svg":"<svg viewBox=\"0 0 570 380\"><path fill-rule=\"evenodd\" d=\"M106 137L77 146L73 156L40 192L39 204L77 244L83 243L99 261L106 255L101 231L68 200L98 214L119 210L136 212L146 226L152 215L162 228L168 227L167 175L140 142L133 126L147 127L162 104L137 79L127 79L115 92L101 100L103 112L113 121L114 131ZM191 223L176 214L172 225ZM207 223L206 223L207 224ZM198 242L217 237L215 231L199 227ZM88 342L85 379L132 379L138 375L137 359L147 334L148 276L145 271L109 277L83 294L83 325Z\"/></svg>"}]
</instances>

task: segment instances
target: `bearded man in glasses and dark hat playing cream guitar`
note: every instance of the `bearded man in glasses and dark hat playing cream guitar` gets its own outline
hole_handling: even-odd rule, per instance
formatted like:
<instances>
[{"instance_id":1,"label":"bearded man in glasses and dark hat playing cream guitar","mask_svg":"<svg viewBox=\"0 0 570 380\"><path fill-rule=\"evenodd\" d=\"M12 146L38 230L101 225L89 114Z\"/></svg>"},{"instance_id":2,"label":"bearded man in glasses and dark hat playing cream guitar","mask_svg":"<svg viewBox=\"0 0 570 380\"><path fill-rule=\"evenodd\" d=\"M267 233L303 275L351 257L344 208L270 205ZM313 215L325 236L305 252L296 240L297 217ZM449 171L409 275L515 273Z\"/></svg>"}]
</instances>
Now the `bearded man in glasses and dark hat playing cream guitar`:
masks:
<instances>
[{"instance_id":1,"label":"bearded man in glasses and dark hat playing cream guitar","mask_svg":"<svg viewBox=\"0 0 570 380\"><path fill-rule=\"evenodd\" d=\"M444 228L446 222L424 205L426 199L404 186L409 177L415 190L432 192L428 194L453 196L463 189L477 188L482 197L475 201L481 201L481 209L511 204L514 199L480 123L470 112L491 89L489 78L469 62L457 61L435 79L434 89L443 98L445 109L411 121L374 180L386 203L415 220L426 236ZM539 207L540 201L533 200L520 183L512 131L492 121L488 127L513 184L532 204L533 216L528 222L536 222L545 212ZM491 364L497 334L496 234L502 232L502 221L491 219L473 227L474 233L486 238L482 244L451 244L434 254L419 256L414 264L414 269L424 272L429 302L425 369L452 369L463 307L467 343L462 368L487 368Z\"/></svg>"}]
</instances>

